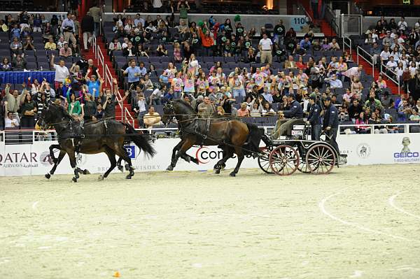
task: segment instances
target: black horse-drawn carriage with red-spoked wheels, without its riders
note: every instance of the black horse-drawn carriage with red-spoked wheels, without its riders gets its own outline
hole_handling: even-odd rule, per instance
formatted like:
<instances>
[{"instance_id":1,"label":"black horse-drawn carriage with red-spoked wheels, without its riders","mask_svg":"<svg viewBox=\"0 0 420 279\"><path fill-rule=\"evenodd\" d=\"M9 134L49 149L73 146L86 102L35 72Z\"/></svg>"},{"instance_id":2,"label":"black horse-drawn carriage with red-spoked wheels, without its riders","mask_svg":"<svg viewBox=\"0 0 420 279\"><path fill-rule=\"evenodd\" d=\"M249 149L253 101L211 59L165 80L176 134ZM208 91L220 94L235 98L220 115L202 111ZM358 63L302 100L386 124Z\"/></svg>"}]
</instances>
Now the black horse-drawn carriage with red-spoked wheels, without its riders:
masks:
<instances>
[{"instance_id":1,"label":"black horse-drawn carriage with red-spoked wheels, without its riders","mask_svg":"<svg viewBox=\"0 0 420 279\"><path fill-rule=\"evenodd\" d=\"M265 173L289 176L296 170L302 173L327 174L334 166L346 164L345 157L327 141L309 140L308 127L295 125L285 139L271 140L261 148L258 165Z\"/></svg>"}]
</instances>

